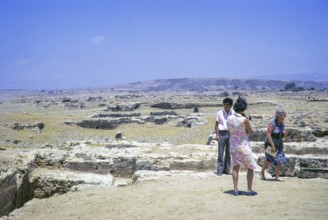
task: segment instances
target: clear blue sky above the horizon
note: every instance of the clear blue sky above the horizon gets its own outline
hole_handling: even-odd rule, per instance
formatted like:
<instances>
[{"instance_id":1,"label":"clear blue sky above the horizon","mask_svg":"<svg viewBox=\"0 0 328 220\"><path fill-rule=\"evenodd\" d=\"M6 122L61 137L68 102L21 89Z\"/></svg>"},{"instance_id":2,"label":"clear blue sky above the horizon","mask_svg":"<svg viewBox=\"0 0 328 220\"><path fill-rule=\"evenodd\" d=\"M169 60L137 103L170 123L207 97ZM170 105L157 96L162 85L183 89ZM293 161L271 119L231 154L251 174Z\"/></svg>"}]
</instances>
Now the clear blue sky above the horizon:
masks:
<instances>
[{"instance_id":1,"label":"clear blue sky above the horizon","mask_svg":"<svg viewBox=\"0 0 328 220\"><path fill-rule=\"evenodd\" d=\"M326 0L0 0L0 89L314 72Z\"/></svg>"}]
</instances>

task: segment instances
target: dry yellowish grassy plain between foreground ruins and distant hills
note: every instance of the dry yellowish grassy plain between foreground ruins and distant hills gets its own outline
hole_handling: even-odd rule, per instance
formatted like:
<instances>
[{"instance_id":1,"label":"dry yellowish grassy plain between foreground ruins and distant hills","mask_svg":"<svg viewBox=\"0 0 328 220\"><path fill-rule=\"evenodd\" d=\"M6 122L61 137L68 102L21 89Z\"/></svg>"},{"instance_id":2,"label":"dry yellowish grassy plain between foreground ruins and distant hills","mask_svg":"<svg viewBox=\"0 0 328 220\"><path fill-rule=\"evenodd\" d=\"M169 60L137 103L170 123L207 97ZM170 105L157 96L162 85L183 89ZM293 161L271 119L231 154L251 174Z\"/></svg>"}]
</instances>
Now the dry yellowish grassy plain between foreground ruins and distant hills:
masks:
<instances>
[{"instance_id":1,"label":"dry yellowish grassy plain between foreground ruins and distant hills","mask_svg":"<svg viewBox=\"0 0 328 220\"><path fill-rule=\"evenodd\" d=\"M104 94L103 94L104 95ZM322 94L310 94L319 96ZM328 102L308 102L309 94L277 94L277 93L249 93L246 97L249 108L246 114L272 116L279 107L287 111L286 125L293 127L295 121L304 120L307 125L320 126L327 129L328 121ZM108 98L110 97L110 98ZM151 108L151 103L156 102L185 102L185 103L218 103L221 104L223 97L215 96L168 96L151 95L134 97L129 100L113 98L108 96L105 104L140 102L142 106L136 112L141 115L149 115L150 112L164 111L162 109ZM236 100L237 97L233 97ZM101 103L101 102L100 102ZM21 104L3 101L0 110L0 134L2 135L1 146L4 147L38 147L45 143L60 145L64 141L76 140L106 140L114 139L117 132L122 132L127 140L140 142L171 144L206 144L208 136L214 129L216 112L221 107L200 107L202 118L207 124L193 128L175 127L169 124L156 125L153 123L145 124L123 124L113 130L86 129L75 125L65 125L65 121L78 121L88 118L90 115L104 110L104 107L98 107L100 103L88 103L85 109L65 109L62 104L51 105L50 108L40 108L35 104ZM271 103L271 104L270 104ZM174 110L181 115L193 113L193 109ZM270 117L263 120L254 120L255 129L266 127ZM14 122L34 123L43 122L45 124L41 134L37 134L30 129L15 131L6 125ZM18 145L13 144L14 140L21 141Z\"/></svg>"}]
</instances>

